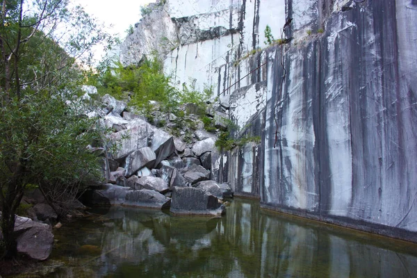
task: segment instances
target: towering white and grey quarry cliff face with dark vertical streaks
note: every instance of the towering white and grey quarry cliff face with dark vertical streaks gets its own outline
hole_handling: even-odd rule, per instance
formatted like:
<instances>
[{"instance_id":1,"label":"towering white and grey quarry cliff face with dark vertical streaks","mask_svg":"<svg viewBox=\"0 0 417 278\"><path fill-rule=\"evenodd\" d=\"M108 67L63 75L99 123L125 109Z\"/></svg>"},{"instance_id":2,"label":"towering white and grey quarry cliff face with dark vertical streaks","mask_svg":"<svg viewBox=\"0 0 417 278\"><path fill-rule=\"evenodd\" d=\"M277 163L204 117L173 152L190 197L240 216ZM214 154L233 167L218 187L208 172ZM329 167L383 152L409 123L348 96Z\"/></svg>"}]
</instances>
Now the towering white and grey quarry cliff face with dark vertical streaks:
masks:
<instances>
[{"instance_id":1,"label":"towering white and grey quarry cliff face with dark vertical streaks","mask_svg":"<svg viewBox=\"0 0 417 278\"><path fill-rule=\"evenodd\" d=\"M416 241L417 1L167 0L157 13L122 63L161 50L178 85L227 98L234 136L261 136L213 155L214 177L264 208ZM265 44L267 25L280 42Z\"/></svg>"}]
</instances>

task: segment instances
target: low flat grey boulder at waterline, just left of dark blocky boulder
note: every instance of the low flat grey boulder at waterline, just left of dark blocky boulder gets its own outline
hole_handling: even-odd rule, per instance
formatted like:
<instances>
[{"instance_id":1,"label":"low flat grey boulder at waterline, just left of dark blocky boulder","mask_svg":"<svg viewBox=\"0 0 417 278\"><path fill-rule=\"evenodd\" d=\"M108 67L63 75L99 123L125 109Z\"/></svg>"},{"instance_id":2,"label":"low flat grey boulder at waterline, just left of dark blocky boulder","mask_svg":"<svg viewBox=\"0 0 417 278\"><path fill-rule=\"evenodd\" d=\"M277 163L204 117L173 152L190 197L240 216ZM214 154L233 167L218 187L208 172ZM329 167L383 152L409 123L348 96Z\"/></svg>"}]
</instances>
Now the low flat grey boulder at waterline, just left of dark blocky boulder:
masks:
<instances>
[{"instance_id":1,"label":"low flat grey boulder at waterline, just left of dark blocky boulder","mask_svg":"<svg viewBox=\"0 0 417 278\"><path fill-rule=\"evenodd\" d=\"M169 208L171 199L150 189L131 190L126 194L124 205L145 208Z\"/></svg>"}]
</instances>

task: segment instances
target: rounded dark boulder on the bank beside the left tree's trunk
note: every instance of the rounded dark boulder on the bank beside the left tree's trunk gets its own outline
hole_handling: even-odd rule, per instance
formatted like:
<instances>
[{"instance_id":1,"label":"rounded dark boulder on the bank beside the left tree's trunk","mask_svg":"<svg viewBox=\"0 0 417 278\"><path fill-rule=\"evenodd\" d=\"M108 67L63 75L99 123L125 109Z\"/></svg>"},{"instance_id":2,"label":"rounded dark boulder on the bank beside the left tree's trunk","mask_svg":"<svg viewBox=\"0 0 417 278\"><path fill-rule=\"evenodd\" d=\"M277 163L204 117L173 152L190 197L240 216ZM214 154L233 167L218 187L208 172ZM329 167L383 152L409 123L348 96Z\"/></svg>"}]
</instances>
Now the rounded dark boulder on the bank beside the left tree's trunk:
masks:
<instances>
[{"instance_id":1,"label":"rounded dark boulder on the bank beside the left tree's trunk","mask_svg":"<svg viewBox=\"0 0 417 278\"><path fill-rule=\"evenodd\" d=\"M17 216L15 233L17 252L39 261L48 259L54 246L54 234L48 224Z\"/></svg>"}]
</instances>

